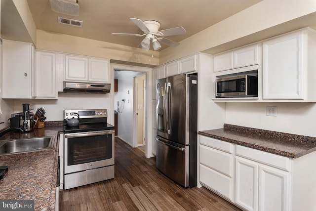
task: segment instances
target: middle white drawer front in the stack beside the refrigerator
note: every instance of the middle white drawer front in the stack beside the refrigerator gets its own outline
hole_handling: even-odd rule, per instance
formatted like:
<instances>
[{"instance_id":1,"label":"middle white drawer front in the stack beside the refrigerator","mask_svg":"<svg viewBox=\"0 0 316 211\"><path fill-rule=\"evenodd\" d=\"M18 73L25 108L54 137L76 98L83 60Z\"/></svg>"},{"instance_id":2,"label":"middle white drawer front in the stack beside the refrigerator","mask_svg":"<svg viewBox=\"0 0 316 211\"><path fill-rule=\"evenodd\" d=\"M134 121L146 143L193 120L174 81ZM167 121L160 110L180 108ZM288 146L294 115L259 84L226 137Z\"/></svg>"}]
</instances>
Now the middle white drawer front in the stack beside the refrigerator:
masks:
<instances>
[{"instance_id":1,"label":"middle white drawer front in the stack beside the refrigerator","mask_svg":"<svg viewBox=\"0 0 316 211\"><path fill-rule=\"evenodd\" d=\"M229 177L233 176L233 155L200 145L200 163Z\"/></svg>"}]
</instances>

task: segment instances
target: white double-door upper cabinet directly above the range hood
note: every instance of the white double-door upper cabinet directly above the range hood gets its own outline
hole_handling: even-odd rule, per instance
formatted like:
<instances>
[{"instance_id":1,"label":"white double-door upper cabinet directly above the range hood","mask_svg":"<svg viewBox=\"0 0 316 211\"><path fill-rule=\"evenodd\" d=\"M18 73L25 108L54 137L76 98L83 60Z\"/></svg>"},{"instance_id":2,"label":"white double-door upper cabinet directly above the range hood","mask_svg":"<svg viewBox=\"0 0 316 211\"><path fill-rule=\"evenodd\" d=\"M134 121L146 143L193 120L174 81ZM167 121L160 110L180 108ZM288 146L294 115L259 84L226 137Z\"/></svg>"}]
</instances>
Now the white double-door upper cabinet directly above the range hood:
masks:
<instances>
[{"instance_id":1,"label":"white double-door upper cabinet directly above the range hood","mask_svg":"<svg viewBox=\"0 0 316 211\"><path fill-rule=\"evenodd\" d=\"M109 69L109 59L65 55L65 81L109 83Z\"/></svg>"}]
</instances>

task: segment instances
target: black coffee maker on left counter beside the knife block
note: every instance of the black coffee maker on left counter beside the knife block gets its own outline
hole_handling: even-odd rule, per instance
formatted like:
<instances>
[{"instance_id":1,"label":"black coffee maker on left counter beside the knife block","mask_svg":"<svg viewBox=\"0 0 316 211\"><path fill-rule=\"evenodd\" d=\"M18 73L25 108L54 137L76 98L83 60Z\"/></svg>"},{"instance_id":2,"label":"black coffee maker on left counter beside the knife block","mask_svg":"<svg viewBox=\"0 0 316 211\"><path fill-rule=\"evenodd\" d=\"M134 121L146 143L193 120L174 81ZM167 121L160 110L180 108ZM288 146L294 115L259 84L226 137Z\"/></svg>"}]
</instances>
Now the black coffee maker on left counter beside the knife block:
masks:
<instances>
[{"instance_id":1,"label":"black coffee maker on left counter beside the knife block","mask_svg":"<svg viewBox=\"0 0 316 211\"><path fill-rule=\"evenodd\" d=\"M34 127L33 113L30 112L30 104L23 104L23 112L11 114L10 127L22 127L25 131L31 131Z\"/></svg>"}]
</instances>

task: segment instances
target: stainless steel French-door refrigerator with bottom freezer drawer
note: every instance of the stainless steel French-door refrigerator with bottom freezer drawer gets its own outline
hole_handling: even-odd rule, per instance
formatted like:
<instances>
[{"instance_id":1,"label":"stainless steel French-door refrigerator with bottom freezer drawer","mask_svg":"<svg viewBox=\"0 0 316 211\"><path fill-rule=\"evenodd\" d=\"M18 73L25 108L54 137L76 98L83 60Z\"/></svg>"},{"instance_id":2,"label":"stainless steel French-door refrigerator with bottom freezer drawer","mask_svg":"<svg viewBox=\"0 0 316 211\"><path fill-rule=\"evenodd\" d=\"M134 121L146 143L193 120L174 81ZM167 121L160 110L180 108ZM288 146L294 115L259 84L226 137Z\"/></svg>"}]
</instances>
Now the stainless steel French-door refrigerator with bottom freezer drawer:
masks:
<instances>
[{"instance_id":1,"label":"stainless steel French-door refrigerator with bottom freezer drawer","mask_svg":"<svg viewBox=\"0 0 316 211\"><path fill-rule=\"evenodd\" d=\"M197 74L156 85L156 167L184 187L197 186Z\"/></svg>"}]
</instances>

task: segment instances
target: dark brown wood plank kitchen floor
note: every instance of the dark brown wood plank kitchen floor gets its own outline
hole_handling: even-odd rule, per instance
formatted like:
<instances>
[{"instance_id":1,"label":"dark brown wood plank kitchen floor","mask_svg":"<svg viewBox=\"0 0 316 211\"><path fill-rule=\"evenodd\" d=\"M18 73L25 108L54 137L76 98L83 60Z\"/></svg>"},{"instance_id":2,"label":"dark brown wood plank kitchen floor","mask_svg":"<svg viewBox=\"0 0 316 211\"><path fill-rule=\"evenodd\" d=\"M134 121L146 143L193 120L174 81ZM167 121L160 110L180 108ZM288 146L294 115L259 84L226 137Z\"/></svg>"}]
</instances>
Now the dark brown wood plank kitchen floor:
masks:
<instances>
[{"instance_id":1,"label":"dark brown wood plank kitchen floor","mask_svg":"<svg viewBox=\"0 0 316 211\"><path fill-rule=\"evenodd\" d=\"M206 188L183 188L155 158L115 138L115 178L61 191L61 211L239 211Z\"/></svg>"}]
</instances>

